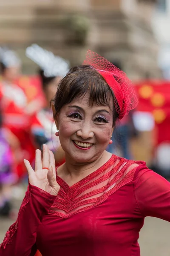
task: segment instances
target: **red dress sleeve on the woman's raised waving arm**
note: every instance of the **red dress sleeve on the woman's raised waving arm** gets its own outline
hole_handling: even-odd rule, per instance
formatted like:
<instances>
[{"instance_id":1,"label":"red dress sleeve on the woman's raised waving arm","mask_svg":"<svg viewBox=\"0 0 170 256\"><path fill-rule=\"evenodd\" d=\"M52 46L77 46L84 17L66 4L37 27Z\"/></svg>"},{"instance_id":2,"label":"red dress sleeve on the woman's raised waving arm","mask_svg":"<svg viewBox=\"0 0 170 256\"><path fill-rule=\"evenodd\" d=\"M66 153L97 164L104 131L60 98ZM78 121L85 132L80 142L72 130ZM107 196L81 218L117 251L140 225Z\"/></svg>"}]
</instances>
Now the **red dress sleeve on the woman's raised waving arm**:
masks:
<instances>
[{"instance_id":1,"label":"red dress sleeve on the woman's raised waving arm","mask_svg":"<svg viewBox=\"0 0 170 256\"><path fill-rule=\"evenodd\" d=\"M17 221L8 229L0 245L0 256L35 255L37 229L55 199L56 196L29 184Z\"/></svg>"}]
</instances>

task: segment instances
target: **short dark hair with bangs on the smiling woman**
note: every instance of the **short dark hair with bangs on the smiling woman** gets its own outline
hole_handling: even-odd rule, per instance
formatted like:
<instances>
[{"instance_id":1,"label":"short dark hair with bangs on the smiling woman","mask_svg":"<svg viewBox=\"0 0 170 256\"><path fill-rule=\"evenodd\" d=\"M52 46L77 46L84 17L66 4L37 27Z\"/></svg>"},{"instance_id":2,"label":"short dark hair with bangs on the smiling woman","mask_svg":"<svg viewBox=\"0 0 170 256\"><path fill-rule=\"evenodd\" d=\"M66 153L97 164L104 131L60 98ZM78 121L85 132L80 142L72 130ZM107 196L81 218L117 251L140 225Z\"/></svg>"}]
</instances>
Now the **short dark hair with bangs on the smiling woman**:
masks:
<instances>
[{"instance_id":1,"label":"short dark hair with bangs on the smiling woman","mask_svg":"<svg viewBox=\"0 0 170 256\"><path fill-rule=\"evenodd\" d=\"M51 101L54 104L56 115L61 108L70 103L73 99L89 93L89 105L109 106L109 102L115 96L105 79L91 66L83 65L72 67L68 74L60 81L55 98ZM113 126L118 119L118 113L113 109Z\"/></svg>"}]
</instances>

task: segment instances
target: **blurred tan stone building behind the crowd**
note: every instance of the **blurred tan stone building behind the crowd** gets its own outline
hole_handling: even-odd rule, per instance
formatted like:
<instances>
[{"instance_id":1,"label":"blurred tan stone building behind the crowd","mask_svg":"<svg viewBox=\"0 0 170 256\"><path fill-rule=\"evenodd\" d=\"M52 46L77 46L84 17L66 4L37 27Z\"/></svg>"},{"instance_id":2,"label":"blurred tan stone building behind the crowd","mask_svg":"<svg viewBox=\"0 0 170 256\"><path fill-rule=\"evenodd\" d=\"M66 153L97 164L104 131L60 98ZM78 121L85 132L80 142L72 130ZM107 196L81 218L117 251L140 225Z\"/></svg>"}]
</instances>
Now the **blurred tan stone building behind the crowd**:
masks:
<instances>
[{"instance_id":1,"label":"blurred tan stone building behind the crowd","mask_svg":"<svg viewBox=\"0 0 170 256\"><path fill-rule=\"evenodd\" d=\"M151 28L156 0L2 0L0 45L16 49L25 73L35 65L25 48L37 43L81 64L87 49L120 63L131 79L160 77Z\"/></svg>"}]
</instances>

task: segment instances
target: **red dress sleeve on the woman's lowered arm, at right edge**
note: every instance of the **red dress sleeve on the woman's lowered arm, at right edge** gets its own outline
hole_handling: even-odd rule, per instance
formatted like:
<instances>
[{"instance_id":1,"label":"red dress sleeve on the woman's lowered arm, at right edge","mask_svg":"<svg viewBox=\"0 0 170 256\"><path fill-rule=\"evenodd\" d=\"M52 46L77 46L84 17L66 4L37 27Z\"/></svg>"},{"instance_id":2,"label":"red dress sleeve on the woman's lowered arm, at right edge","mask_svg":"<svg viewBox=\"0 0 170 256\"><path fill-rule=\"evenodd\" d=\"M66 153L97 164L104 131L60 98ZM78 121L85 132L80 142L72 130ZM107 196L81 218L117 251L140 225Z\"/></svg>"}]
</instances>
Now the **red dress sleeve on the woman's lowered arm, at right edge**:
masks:
<instances>
[{"instance_id":1,"label":"red dress sleeve on the woman's lowered arm, at right edge","mask_svg":"<svg viewBox=\"0 0 170 256\"><path fill-rule=\"evenodd\" d=\"M142 163L136 169L133 186L136 202L144 217L170 222L170 182Z\"/></svg>"}]
</instances>

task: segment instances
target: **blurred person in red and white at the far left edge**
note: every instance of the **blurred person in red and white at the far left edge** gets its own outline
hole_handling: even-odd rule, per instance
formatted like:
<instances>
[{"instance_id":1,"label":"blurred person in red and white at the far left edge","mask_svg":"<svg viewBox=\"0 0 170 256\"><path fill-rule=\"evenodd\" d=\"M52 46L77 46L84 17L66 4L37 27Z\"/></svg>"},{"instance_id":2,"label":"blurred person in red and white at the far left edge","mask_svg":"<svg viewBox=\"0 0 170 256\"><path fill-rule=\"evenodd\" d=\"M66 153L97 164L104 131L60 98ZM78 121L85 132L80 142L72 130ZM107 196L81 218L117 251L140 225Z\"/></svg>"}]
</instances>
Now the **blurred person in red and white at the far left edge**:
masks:
<instances>
[{"instance_id":1,"label":"blurred person in red and white at the far left edge","mask_svg":"<svg viewBox=\"0 0 170 256\"><path fill-rule=\"evenodd\" d=\"M10 145L14 153L15 172L18 177L25 173L23 157L28 157L34 163L35 147L29 127L32 111L27 104L27 97L23 89L17 84L21 75L21 61L17 54L0 47L0 105L3 114L3 126L8 128ZM28 111L28 109L29 111Z\"/></svg>"}]
</instances>

